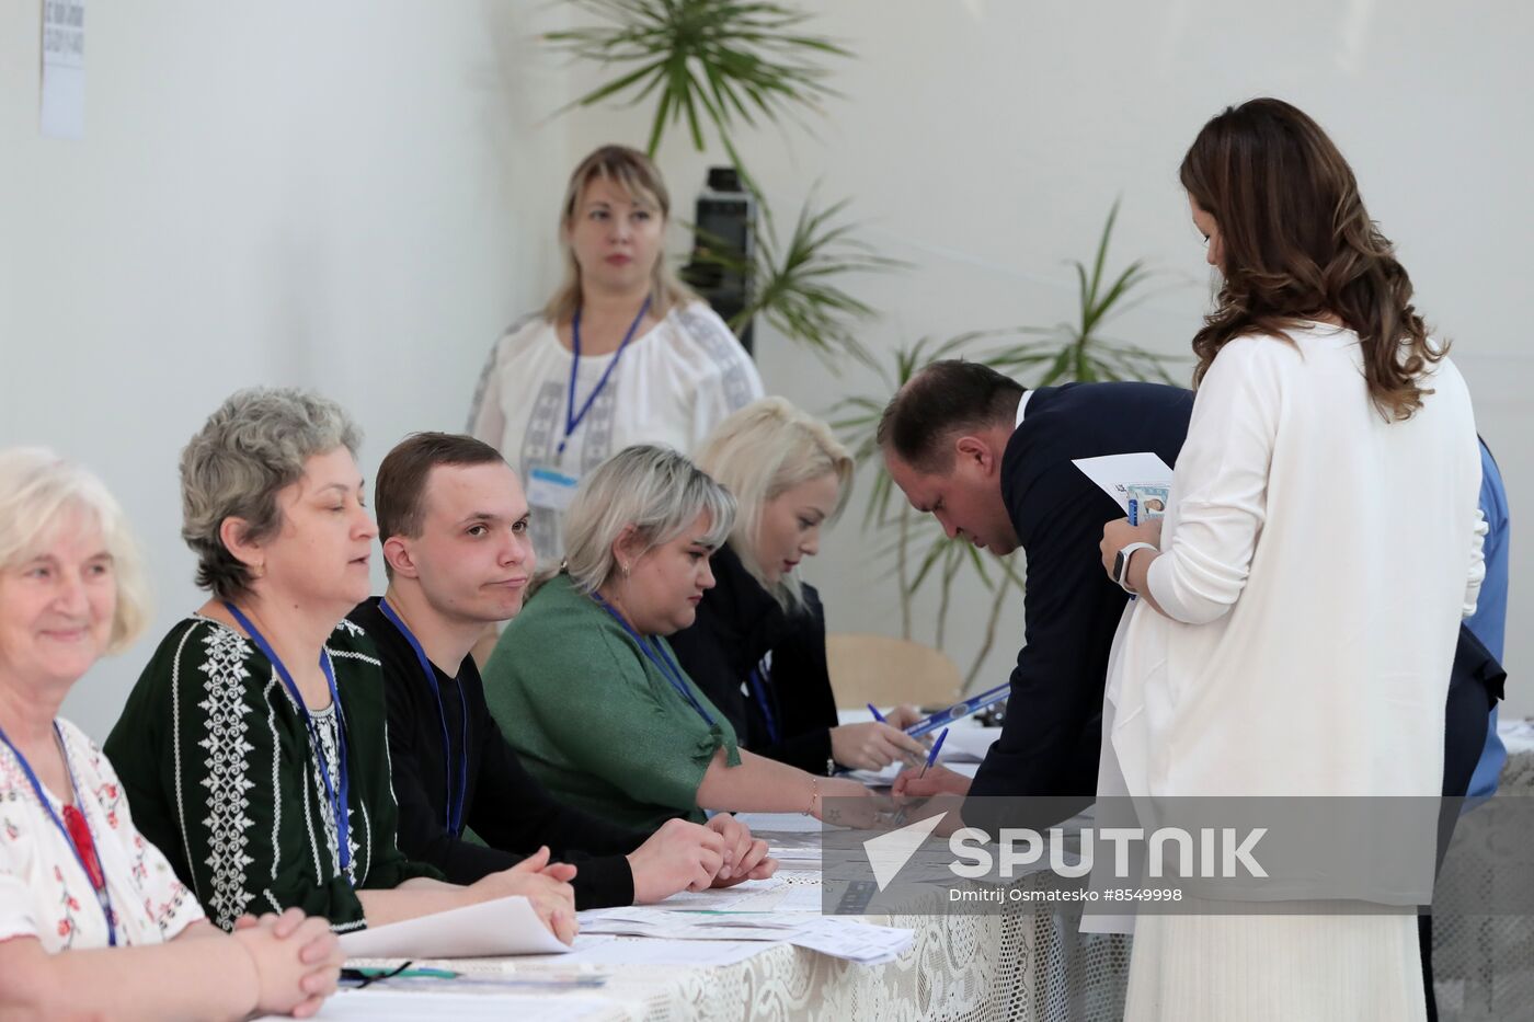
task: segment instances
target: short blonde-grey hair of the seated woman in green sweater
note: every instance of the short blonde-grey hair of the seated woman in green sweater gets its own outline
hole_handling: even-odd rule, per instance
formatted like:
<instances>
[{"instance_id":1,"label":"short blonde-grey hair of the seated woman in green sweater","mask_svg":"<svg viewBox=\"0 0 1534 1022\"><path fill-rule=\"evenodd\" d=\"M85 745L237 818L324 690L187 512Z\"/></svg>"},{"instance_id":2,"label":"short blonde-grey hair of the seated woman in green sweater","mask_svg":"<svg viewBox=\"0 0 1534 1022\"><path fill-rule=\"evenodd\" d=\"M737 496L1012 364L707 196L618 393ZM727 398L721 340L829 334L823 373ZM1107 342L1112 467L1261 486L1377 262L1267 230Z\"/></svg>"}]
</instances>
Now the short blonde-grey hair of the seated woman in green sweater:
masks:
<instances>
[{"instance_id":1,"label":"short blonde-grey hair of the seated woman in green sweater","mask_svg":"<svg viewBox=\"0 0 1534 1022\"><path fill-rule=\"evenodd\" d=\"M612 579L612 545L634 526L646 549L681 536L700 514L709 532L698 542L716 549L735 523L735 497L669 447L626 447L581 480L565 513L565 569L581 592Z\"/></svg>"}]
</instances>

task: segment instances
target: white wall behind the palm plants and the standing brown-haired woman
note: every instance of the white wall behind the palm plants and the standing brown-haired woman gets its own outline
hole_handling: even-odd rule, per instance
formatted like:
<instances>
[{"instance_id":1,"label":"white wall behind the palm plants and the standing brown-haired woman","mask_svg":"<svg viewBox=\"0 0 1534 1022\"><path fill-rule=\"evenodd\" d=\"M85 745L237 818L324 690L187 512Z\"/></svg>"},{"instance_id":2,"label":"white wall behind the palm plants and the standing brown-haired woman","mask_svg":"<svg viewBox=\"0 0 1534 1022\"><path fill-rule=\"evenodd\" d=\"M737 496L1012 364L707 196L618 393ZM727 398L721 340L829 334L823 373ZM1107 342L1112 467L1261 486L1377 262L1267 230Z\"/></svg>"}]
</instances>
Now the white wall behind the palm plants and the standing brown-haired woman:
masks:
<instances>
[{"instance_id":1,"label":"white wall behind the palm plants and the standing brown-haired woman","mask_svg":"<svg viewBox=\"0 0 1534 1022\"><path fill-rule=\"evenodd\" d=\"M811 6L811 5L807 5ZM1089 258L1103 218L1123 198L1112 264L1146 258L1164 290L1109 331L1183 353L1207 305L1210 278L1187 223L1177 166L1200 126L1253 95L1287 98L1327 127L1353 163L1364 198L1397 242L1417 307L1457 341L1454 358L1476 394L1479 424L1506 477L1514 522L1506 661L1511 712L1534 712L1519 666L1534 658L1534 354L1522 299L1534 229L1534 12L1493 0L1229 0L1017 3L1014 0L838 0L813 29L858 52L834 80L842 100L810 121L816 137L769 129L742 152L779 216L792 219L815 183L853 196L864 236L916 264L862 282L884 312L867 330L888 348L933 335L1054 324L1072 313L1066 258ZM597 81L586 69L575 87ZM572 123L575 149L643 140L632 110ZM710 158L712 157L712 158ZM690 195L703 169L684 134L661 164ZM769 390L825 410L873 387L807 371L808 356L759 335ZM1424 480L1431 485L1431 480ZM854 508L861 508L861 494ZM1534 514L1534 513L1529 513ZM936 526L931 526L936 528ZM854 517L807 565L831 628L894 631L887 566L871 562ZM1410 557L1410 551L1402 551ZM988 600L971 588L950 648L960 666L979 646ZM1022 609L1003 618L979 681L1005 680L1022 641ZM1410 623L1402 623L1410 628ZM917 629L920 632L920 629Z\"/></svg>"}]
</instances>

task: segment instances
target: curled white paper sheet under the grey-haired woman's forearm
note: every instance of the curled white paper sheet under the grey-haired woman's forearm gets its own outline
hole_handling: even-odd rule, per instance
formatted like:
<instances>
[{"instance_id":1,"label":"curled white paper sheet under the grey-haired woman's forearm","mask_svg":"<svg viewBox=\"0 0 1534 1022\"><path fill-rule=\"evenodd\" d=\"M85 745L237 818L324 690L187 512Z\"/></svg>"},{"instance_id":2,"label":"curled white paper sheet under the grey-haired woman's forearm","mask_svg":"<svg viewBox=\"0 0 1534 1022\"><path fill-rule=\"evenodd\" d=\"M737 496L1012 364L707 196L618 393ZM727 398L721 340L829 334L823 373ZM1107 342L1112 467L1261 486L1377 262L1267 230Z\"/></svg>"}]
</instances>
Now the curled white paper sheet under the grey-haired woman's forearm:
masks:
<instances>
[{"instance_id":1,"label":"curled white paper sheet under the grey-haired woman's forearm","mask_svg":"<svg viewBox=\"0 0 1534 1022\"><path fill-rule=\"evenodd\" d=\"M568 951L526 898L497 898L341 936L347 958L479 958Z\"/></svg>"}]
</instances>

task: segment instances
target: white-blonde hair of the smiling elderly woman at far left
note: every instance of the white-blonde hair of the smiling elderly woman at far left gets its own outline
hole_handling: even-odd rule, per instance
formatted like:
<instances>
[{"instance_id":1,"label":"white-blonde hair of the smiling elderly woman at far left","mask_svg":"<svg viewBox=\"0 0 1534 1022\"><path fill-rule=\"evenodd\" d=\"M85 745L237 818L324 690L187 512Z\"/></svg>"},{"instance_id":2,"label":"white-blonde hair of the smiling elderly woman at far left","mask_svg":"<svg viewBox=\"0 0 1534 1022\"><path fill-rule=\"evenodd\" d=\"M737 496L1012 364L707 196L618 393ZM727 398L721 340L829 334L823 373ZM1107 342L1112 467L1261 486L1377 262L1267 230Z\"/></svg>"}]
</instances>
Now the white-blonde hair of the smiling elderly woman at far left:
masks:
<instances>
[{"instance_id":1,"label":"white-blonde hair of the smiling elderly woman at far left","mask_svg":"<svg viewBox=\"0 0 1534 1022\"><path fill-rule=\"evenodd\" d=\"M150 617L144 559L123 506L95 474L44 447L0 451L0 571L38 556L71 520L69 511L83 513L101 529L112 556L117 609L106 652L121 652Z\"/></svg>"}]
</instances>

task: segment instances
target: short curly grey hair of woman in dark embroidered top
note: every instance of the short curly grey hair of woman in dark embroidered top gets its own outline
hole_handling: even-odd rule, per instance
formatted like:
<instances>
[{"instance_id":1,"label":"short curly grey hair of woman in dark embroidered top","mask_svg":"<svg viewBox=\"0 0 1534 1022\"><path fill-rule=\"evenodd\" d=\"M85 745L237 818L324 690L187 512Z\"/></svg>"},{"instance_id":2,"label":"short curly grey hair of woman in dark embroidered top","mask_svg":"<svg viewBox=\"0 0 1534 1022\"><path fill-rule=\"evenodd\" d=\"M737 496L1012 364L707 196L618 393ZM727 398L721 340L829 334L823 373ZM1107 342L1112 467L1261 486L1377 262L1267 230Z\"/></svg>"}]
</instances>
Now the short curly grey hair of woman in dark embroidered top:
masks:
<instances>
[{"instance_id":1,"label":"short curly grey hair of woman in dark embroidered top","mask_svg":"<svg viewBox=\"0 0 1534 1022\"><path fill-rule=\"evenodd\" d=\"M250 591L250 568L229 552L219 529L245 522L245 539L282 528L278 491L304 476L314 454L345 447L356 456L362 431L341 405L291 387L236 391L181 451L181 539L196 554L196 583L221 600Z\"/></svg>"}]
</instances>

